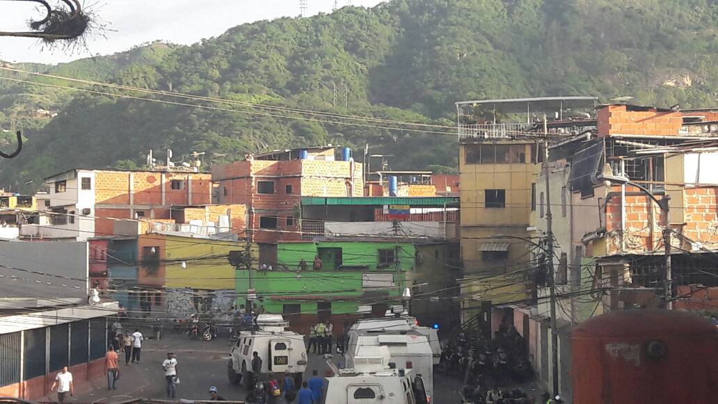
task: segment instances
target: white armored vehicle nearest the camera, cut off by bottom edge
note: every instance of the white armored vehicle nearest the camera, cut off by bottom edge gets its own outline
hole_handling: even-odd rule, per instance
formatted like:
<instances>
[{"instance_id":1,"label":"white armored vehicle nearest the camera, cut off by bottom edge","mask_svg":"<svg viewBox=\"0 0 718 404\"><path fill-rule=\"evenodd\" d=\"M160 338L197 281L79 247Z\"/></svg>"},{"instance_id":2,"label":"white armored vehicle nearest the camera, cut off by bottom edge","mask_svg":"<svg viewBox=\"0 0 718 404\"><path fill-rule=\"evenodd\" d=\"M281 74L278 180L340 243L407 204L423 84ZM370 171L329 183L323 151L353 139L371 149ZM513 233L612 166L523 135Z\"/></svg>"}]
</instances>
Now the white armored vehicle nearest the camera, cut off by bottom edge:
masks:
<instances>
[{"instance_id":1,"label":"white armored vehicle nearest the camera, cut off by bottom edge","mask_svg":"<svg viewBox=\"0 0 718 404\"><path fill-rule=\"evenodd\" d=\"M332 404L425 404L426 392L421 377L411 380L411 370L385 369L357 372L342 369L327 377L326 403Z\"/></svg>"}]
</instances>

